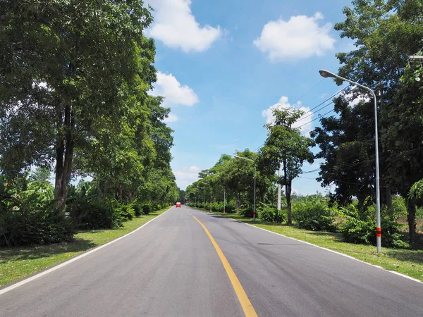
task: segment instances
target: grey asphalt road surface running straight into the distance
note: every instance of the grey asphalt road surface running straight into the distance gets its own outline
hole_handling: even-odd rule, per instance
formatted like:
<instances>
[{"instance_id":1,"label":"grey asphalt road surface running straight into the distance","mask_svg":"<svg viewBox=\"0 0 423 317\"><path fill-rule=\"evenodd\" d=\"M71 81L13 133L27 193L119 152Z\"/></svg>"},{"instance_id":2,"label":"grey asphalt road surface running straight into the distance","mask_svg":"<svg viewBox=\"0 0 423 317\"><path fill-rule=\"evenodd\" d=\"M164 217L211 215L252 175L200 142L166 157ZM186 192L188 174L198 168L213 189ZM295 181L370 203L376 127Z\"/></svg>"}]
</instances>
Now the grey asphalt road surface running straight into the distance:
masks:
<instances>
[{"instance_id":1,"label":"grey asphalt road surface running straight into the distance","mask_svg":"<svg viewBox=\"0 0 423 317\"><path fill-rule=\"evenodd\" d=\"M183 206L0 295L0 316L244 316L219 244L258 316L423 316L423 285Z\"/></svg>"}]
</instances>

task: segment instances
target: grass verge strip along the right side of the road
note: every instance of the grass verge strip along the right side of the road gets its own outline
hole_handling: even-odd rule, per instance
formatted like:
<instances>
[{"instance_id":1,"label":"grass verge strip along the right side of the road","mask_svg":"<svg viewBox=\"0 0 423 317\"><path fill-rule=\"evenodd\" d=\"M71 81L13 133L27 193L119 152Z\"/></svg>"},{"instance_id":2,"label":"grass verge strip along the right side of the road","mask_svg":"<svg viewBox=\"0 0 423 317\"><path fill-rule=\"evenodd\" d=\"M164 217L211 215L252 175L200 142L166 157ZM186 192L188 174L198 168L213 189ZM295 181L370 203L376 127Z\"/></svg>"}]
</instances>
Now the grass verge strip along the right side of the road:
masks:
<instances>
[{"instance_id":1,"label":"grass verge strip along the right side of the road","mask_svg":"<svg viewBox=\"0 0 423 317\"><path fill-rule=\"evenodd\" d=\"M277 232L287 237L293 237L298 240L316 244L319 247L348 254L355 259L381 266L387 270L409 275L423 282L423 250L382 248L381 254L377 254L376 247L372 245L343 242L341 234L339 233L314 232L300 229L292 225L264 223L259 220L253 221L251 218L245 218L233 213L214 213L226 218L233 218L244 223L250 223L250 225Z\"/></svg>"}]
</instances>

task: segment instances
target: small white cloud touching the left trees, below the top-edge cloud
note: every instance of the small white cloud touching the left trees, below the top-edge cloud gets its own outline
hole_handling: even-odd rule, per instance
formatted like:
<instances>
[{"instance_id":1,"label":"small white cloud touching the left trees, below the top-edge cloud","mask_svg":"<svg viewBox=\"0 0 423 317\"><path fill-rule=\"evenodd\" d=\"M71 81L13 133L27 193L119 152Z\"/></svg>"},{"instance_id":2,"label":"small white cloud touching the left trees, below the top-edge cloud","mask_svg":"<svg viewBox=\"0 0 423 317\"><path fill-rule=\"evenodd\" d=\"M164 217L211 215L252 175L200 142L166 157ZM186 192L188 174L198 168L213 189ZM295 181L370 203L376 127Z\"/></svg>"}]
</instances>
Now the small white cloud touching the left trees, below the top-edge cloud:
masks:
<instances>
[{"instance_id":1,"label":"small white cloud touching the left trees, below the top-edge cloud","mask_svg":"<svg viewBox=\"0 0 423 317\"><path fill-rule=\"evenodd\" d=\"M180 85L180 82L172 74L157 73L157 82L151 92L154 96L163 96L166 106L183 105L193 106L200 100L187 85Z\"/></svg>"}]
</instances>

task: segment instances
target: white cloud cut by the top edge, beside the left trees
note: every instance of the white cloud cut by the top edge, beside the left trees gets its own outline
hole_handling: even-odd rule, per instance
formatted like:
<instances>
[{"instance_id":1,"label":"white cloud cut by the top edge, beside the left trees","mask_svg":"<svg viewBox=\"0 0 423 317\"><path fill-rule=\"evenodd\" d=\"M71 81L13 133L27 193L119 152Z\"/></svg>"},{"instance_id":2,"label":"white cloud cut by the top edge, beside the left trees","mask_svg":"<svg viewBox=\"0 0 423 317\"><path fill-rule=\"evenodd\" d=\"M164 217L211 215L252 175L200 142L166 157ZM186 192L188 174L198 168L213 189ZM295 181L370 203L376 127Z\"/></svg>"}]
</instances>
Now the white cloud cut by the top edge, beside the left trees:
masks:
<instances>
[{"instance_id":1,"label":"white cloud cut by the top edge, beside the left trees","mask_svg":"<svg viewBox=\"0 0 423 317\"><path fill-rule=\"evenodd\" d=\"M206 51L221 37L221 28L197 23L191 0L147 0L154 8L154 23L147 34L174 49Z\"/></svg>"}]
</instances>

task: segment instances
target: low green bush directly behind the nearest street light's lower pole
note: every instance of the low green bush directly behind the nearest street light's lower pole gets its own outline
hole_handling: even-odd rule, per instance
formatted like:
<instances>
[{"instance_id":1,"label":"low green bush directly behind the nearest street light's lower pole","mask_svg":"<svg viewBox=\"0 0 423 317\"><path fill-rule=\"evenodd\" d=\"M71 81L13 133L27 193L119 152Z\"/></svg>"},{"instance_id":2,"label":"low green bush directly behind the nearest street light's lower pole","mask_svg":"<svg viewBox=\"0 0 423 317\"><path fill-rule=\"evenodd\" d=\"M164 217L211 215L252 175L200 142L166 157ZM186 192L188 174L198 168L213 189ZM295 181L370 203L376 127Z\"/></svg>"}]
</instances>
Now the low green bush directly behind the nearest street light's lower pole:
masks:
<instances>
[{"instance_id":1,"label":"low green bush directly behind the nearest street light's lower pole","mask_svg":"<svg viewBox=\"0 0 423 317\"><path fill-rule=\"evenodd\" d=\"M343 225L339 229L345 242L376 245L376 220L368 211L359 212L355 206L341 209ZM406 248L404 235L400 233L398 223L391 218L381 219L382 246Z\"/></svg>"}]
</instances>

